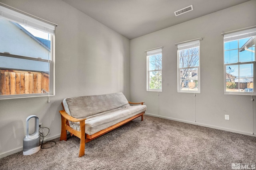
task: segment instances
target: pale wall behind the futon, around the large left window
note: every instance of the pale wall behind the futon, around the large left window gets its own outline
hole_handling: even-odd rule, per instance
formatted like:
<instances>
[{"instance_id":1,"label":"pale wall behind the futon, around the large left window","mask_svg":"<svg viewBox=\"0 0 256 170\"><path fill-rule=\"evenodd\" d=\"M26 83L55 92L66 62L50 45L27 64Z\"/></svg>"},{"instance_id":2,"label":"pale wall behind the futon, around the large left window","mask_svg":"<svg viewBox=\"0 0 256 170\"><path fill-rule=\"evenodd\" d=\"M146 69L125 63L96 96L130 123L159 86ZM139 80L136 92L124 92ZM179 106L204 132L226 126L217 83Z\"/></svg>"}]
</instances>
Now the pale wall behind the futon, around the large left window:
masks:
<instances>
[{"instance_id":1,"label":"pale wall behind the futon, around the large left window","mask_svg":"<svg viewBox=\"0 0 256 170\"><path fill-rule=\"evenodd\" d=\"M58 24L56 96L0 100L0 158L22 150L26 117L35 114L48 139L60 135L66 97L123 92L130 98L130 40L61 0L0 0Z\"/></svg>"}]
</instances>

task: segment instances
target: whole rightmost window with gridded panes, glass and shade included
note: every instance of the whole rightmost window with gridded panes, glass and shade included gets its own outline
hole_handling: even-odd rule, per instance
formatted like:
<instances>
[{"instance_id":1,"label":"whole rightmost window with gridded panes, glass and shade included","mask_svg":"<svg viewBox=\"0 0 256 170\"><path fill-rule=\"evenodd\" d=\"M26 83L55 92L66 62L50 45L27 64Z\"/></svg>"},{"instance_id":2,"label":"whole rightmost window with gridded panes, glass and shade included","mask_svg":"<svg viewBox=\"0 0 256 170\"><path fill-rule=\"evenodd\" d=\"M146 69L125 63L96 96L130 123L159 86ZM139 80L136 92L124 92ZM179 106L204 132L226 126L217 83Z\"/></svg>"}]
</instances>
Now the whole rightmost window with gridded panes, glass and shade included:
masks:
<instances>
[{"instance_id":1,"label":"whole rightmost window with gridded panes, glass and shade included","mask_svg":"<svg viewBox=\"0 0 256 170\"><path fill-rule=\"evenodd\" d=\"M255 92L256 28L224 34L224 93Z\"/></svg>"}]
</instances>

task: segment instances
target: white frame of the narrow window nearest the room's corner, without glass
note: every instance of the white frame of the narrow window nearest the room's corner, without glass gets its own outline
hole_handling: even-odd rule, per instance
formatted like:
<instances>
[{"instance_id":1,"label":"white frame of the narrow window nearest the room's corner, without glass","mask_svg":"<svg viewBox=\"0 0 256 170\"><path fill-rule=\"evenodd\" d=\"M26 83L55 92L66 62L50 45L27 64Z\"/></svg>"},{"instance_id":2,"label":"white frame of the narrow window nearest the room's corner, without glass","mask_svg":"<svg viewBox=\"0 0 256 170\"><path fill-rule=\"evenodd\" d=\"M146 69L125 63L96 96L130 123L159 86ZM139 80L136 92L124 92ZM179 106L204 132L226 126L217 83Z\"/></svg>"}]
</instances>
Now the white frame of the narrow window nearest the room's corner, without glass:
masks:
<instances>
[{"instance_id":1,"label":"white frame of the narrow window nearest the room's corner, without glass","mask_svg":"<svg viewBox=\"0 0 256 170\"><path fill-rule=\"evenodd\" d=\"M147 87L146 87L146 90L148 92L162 92L162 64L161 64L161 68L162 69L158 69L158 70L149 70L149 58L150 56L153 56L153 55L159 55L161 54L161 63L162 63L162 48L163 47L158 47L158 48L155 48L155 49L150 49L150 50L147 50L145 51L147 53L147 56L146 56L146 69L147 69ZM158 71L158 72L161 72L161 88L160 89L150 89L150 72L153 72L153 71Z\"/></svg>"}]
</instances>

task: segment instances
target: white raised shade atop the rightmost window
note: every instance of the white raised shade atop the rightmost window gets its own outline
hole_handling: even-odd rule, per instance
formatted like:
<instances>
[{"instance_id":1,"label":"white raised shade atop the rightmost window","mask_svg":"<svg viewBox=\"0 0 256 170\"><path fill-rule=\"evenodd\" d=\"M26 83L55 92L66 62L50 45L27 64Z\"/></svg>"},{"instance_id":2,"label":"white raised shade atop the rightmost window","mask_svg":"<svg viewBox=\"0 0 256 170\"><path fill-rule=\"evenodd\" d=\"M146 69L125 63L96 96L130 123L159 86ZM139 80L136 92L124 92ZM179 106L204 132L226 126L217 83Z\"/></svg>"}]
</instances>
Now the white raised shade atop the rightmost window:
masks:
<instances>
[{"instance_id":1,"label":"white raised shade atop the rightmost window","mask_svg":"<svg viewBox=\"0 0 256 170\"><path fill-rule=\"evenodd\" d=\"M224 42L256 36L256 28L224 34Z\"/></svg>"}]
</instances>

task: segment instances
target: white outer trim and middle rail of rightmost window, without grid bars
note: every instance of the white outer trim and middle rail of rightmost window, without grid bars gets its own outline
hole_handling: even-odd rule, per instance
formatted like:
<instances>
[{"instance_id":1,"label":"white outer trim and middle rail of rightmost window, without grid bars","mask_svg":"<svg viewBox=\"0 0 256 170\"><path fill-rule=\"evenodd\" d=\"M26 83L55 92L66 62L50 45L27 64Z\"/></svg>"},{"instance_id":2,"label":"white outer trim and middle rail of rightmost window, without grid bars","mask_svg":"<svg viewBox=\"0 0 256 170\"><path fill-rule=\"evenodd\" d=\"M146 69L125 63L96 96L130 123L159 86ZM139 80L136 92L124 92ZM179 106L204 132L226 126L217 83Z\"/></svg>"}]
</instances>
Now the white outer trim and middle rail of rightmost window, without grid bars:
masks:
<instances>
[{"instance_id":1,"label":"white outer trim and middle rail of rightmost window, without grid bars","mask_svg":"<svg viewBox=\"0 0 256 170\"><path fill-rule=\"evenodd\" d=\"M256 95L256 54L254 53L254 61L252 62L243 62L243 63L228 63L225 64L225 42L234 41L238 39L243 39L246 37L256 36L256 28L251 29L242 29L238 31L230 31L230 33L222 33L224 35L224 42L223 42L223 63L224 63L224 94L237 94L237 95ZM238 54L239 55L239 54ZM226 91L226 66L229 65L242 65L242 64L253 64L253 90L254 92L227 92ZM239 74L239 73L238 73ZM239 77L240 78L240 77Z\"/></svg>"}]
</instances>

